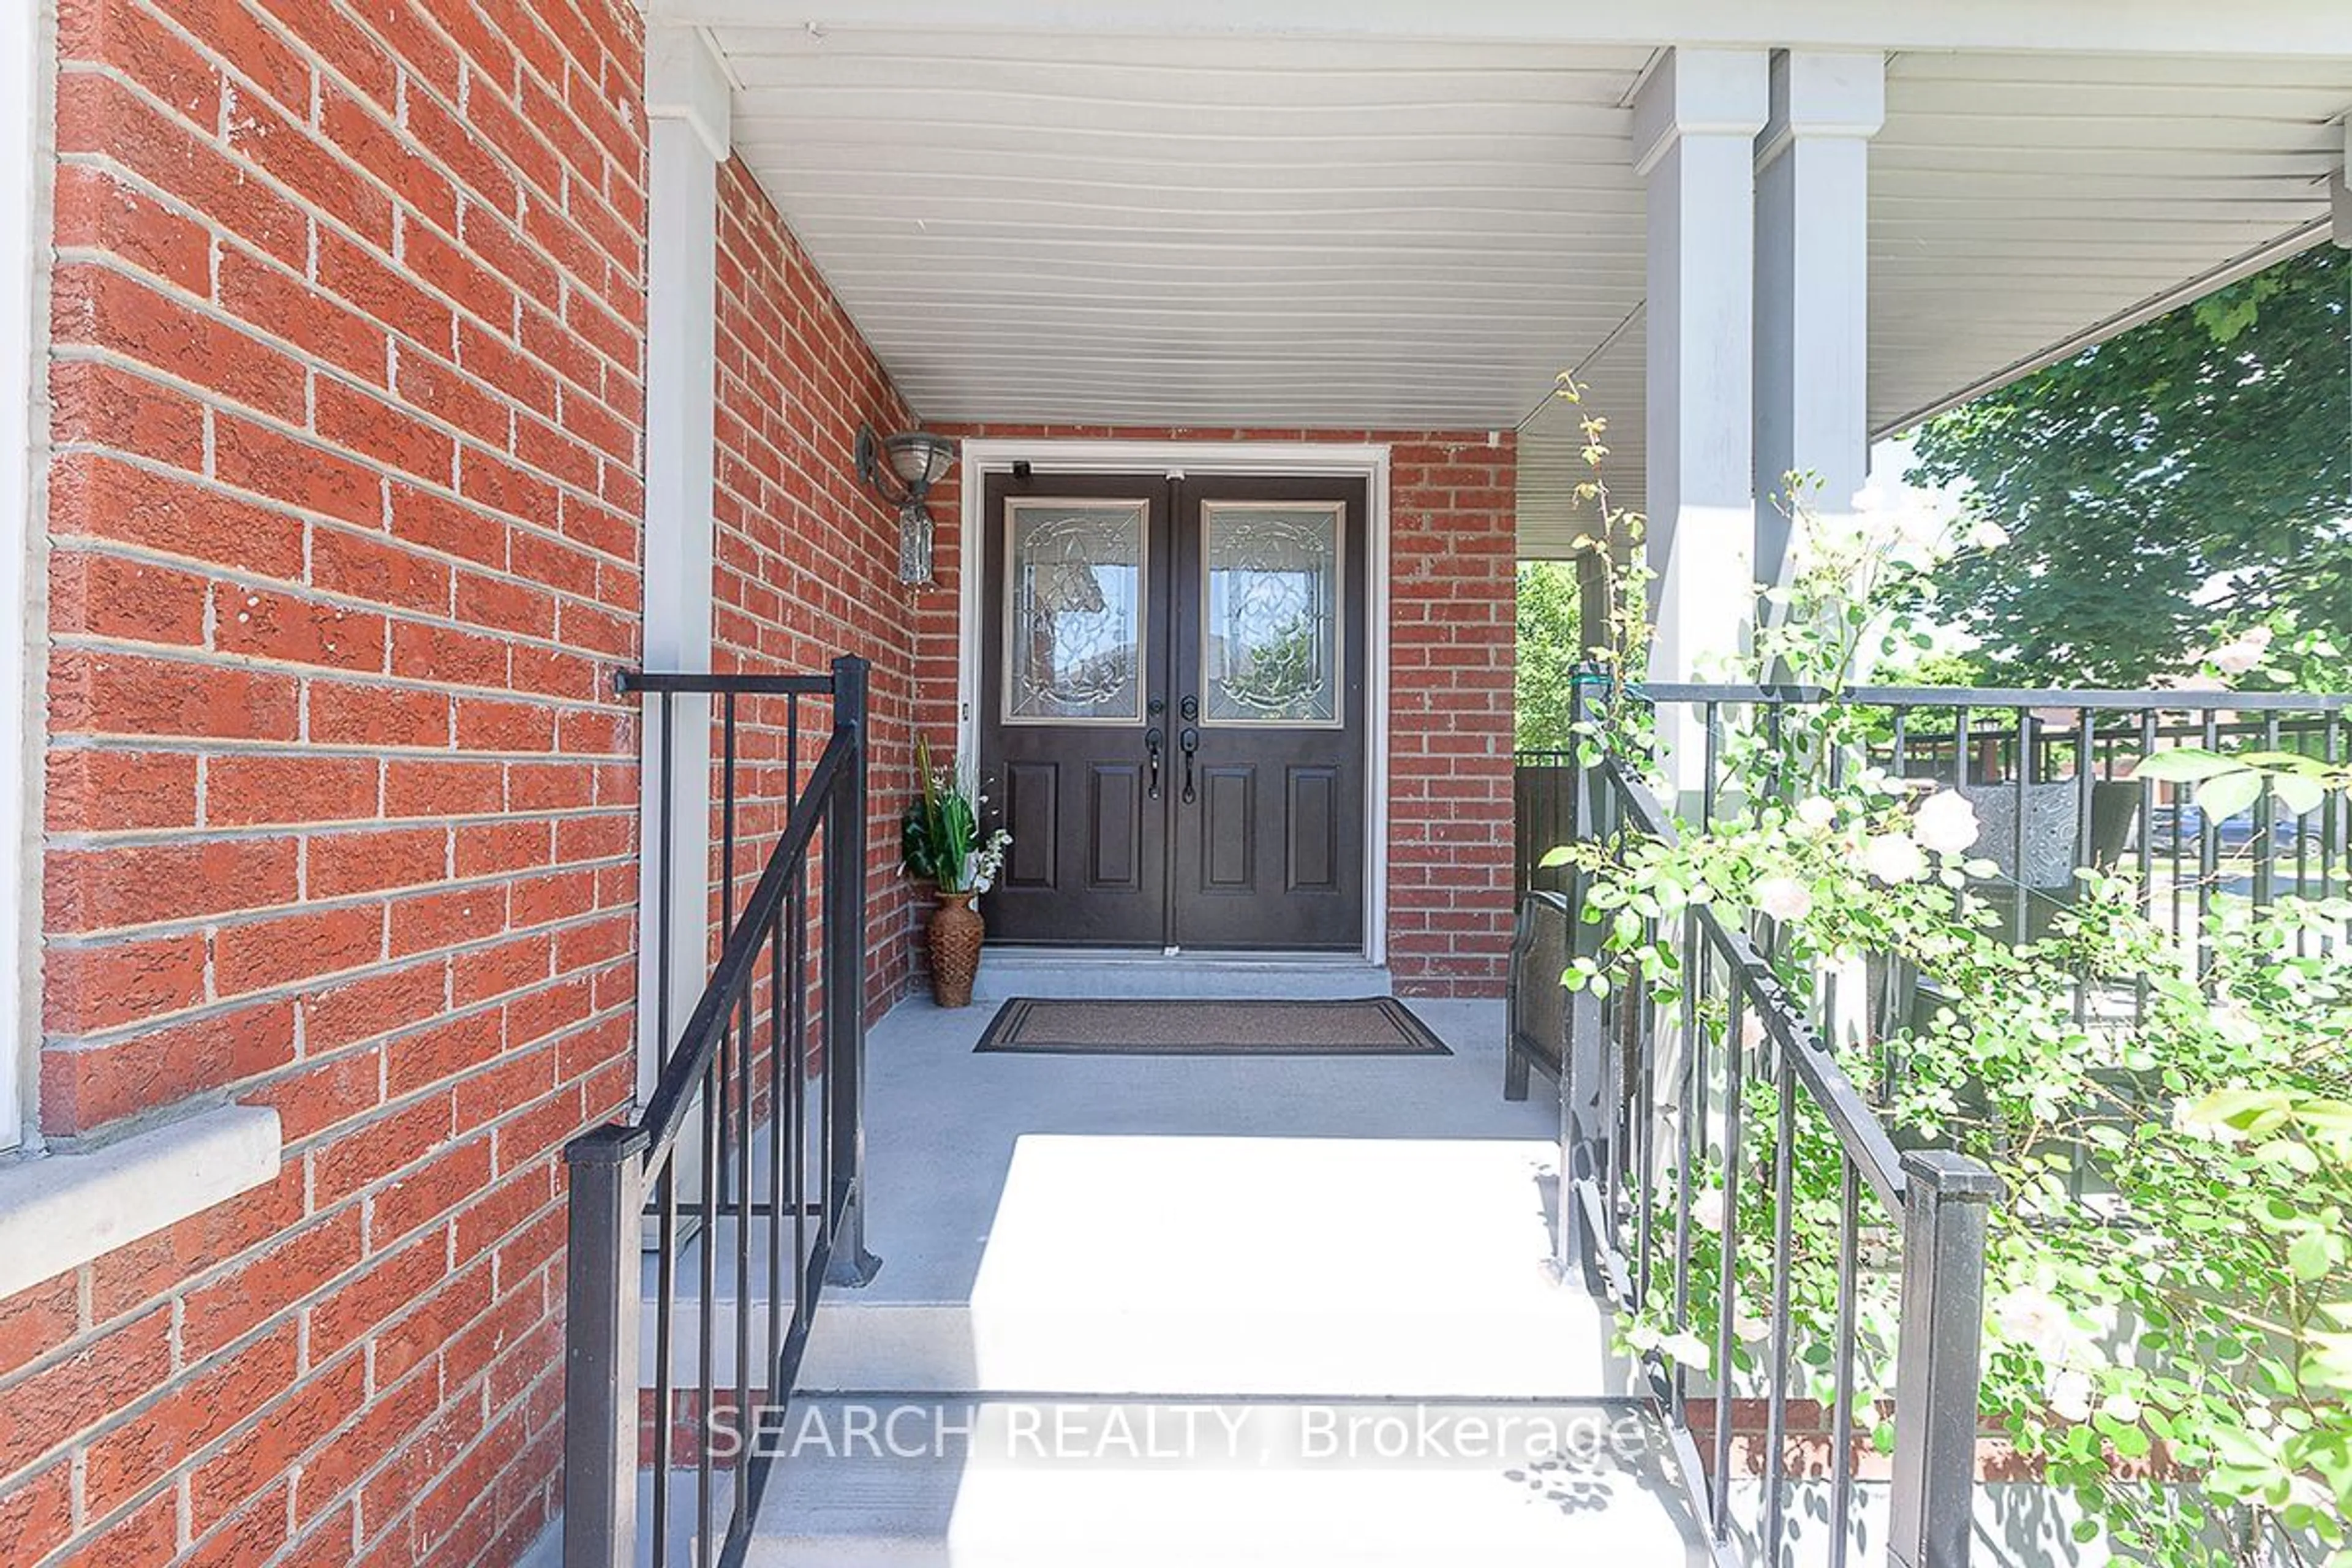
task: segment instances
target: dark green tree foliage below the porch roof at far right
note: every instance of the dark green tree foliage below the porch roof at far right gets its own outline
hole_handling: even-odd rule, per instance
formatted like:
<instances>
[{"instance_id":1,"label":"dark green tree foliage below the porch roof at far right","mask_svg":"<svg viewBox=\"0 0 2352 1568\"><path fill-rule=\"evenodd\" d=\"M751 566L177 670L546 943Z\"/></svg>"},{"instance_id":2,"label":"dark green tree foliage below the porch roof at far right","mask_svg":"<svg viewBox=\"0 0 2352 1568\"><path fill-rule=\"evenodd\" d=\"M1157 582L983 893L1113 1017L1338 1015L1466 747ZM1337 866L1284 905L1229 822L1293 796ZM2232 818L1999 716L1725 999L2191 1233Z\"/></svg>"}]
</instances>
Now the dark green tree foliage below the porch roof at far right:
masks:
<instances>
[{"instance_id":1,"label":"dark green tree foliage below the porch roof at far right","mask_svg":"<svg viewBox=\"0 0 2352 1568\"><path fill-rule=\"evenodd\" d=\"M2011 536L1943 581L1990 679L2143 684L2253 625L2352 646L2347 301L2324 244L1919 430L1912 480Z\"/></svg>"}]
</instances>

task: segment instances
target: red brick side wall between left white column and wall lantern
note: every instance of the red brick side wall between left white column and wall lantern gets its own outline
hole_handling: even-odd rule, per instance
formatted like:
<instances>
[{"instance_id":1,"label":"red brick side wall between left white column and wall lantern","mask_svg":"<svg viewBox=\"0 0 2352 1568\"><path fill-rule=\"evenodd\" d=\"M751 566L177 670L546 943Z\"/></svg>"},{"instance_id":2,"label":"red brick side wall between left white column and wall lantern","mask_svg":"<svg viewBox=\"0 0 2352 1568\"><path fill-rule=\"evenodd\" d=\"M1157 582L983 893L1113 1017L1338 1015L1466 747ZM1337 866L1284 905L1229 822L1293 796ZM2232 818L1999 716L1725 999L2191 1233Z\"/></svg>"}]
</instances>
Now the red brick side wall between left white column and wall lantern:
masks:
<instances>
[{"instance_id":1,"label":"red brick side wall between left white column and wall lantern","mask_svg":"<svg viewBox=\"0 0 2352 1568\"><path fill-rule=\"evenodd\" d=\"M898 806L913 788L915 590L898 583L898 517L856 480L858 423L906 430L913 416L826 280L743 160L720 169L717 259L717 670L826 670L873 661L868 691L868 1011L906 990L910 914L898 875ZM736 903L750 896L781 830L786 710L739 715ZM823 750L826 708L802 703L802 771ZM717 750L713 750L717 755Z\"/></svg>"}]
</instances>

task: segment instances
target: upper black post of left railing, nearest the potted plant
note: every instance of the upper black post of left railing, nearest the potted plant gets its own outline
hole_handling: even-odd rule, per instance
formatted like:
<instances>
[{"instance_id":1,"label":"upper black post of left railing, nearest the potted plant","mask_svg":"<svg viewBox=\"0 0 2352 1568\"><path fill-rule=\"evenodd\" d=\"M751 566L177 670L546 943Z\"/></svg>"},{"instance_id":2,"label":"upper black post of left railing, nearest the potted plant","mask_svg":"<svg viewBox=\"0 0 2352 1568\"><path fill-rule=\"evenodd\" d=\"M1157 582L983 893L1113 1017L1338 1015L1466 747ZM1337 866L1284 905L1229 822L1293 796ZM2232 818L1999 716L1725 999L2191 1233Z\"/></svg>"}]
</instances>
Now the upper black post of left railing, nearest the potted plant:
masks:
<instances>
[{"instance_id":1,"label":"upper black post of left railing, nearest the potted plant","mask_svg":"<svg viewBox=\"0 0 2352 1568\"><path fill-rule=\"evenodd\" d=\"M882 1267L866 1251L866 661L833 661L833 731L851 738L826 806L826 1093L833 1095L833 1258L826 1284L863 1286Z\"/></svg>"}]
</instances>

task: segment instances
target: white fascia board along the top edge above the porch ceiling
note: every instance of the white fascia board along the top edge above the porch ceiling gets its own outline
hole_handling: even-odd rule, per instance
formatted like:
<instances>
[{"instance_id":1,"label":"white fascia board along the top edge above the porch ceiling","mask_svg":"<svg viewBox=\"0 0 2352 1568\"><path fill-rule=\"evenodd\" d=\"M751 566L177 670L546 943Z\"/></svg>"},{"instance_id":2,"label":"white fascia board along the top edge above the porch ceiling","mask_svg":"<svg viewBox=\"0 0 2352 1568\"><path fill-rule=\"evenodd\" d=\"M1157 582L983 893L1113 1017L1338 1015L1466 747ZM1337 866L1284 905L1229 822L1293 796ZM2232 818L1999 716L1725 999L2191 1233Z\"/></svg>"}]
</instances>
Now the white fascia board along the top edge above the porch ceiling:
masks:
<instances>
[{"instance_id":1,"label":"white fascia board along the top edge above the porch ceiling","mask_svg":"<svg viewBox=\"0 0 2352 1568\"><path fill-rule=\"evenodd\" d=\"M727 28L1235 33L1780 49L2027 49L2352 59L2343 0L647 0L654 21Z\"/></svg>"}]
</instances>

